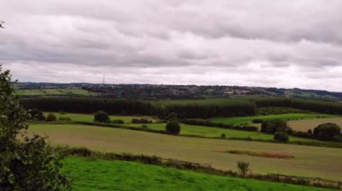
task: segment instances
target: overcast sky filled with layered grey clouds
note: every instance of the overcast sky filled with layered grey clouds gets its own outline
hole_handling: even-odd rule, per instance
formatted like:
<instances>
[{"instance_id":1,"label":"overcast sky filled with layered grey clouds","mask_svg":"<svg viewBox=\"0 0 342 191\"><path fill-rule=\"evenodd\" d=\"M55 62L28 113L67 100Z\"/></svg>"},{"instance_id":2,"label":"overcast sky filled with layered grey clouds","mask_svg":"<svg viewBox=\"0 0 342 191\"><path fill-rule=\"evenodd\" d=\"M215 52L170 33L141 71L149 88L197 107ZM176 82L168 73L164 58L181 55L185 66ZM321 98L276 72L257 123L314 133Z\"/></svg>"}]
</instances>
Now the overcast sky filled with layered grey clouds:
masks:
<instances>
[{"instance_id":1,"label":"overcast sky filled with layered grey clouds","mask_svg":"<svg viewBox=\"0 0 342 191\"><path fill-rule=\"evenodd\" d=\"M0 0L21 82L342 91L340 0Z\"/></svg>"}]
</instances>

